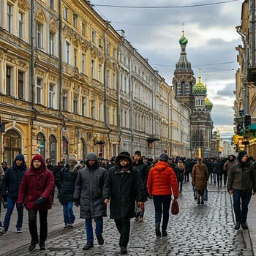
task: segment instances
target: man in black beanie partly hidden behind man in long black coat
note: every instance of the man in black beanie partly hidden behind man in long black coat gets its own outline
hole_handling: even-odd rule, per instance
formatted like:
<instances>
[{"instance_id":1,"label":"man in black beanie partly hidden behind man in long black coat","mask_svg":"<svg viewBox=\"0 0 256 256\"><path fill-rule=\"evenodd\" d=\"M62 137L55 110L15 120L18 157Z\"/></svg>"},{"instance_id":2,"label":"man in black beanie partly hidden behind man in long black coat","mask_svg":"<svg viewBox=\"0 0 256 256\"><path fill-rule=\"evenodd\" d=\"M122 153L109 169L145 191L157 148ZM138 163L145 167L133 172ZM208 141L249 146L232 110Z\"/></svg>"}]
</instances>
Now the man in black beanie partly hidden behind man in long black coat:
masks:
<instances>
[{"instance_id":1,"label":"man in black beanie partly hidden behind man in long black coat","mask_svg":"<svg viewBox=\"0 0 256 256\"><path fill-rule=\"evenodd\" d=\"M135 156L134 156L134 162L133 162L133 167L138 169L140 172L140 179L142 182L142 187L145 195L145 201L147 200L147 181L148 181L148 170L149 167L146 163L143 162L143 159L141 157L141 152L140 151L135 151ZM143 217L145 213L145 204L143 205L142 208L138 207L138 204L136 204L135 207L135 221L136 222L143 222Z\"/></svg>"}]
</instances>

